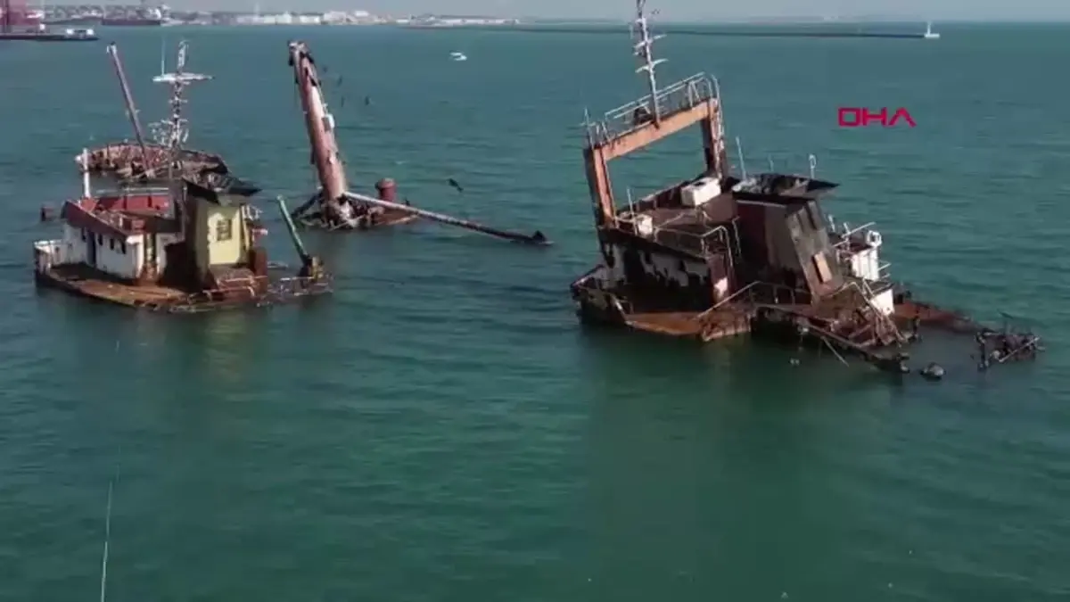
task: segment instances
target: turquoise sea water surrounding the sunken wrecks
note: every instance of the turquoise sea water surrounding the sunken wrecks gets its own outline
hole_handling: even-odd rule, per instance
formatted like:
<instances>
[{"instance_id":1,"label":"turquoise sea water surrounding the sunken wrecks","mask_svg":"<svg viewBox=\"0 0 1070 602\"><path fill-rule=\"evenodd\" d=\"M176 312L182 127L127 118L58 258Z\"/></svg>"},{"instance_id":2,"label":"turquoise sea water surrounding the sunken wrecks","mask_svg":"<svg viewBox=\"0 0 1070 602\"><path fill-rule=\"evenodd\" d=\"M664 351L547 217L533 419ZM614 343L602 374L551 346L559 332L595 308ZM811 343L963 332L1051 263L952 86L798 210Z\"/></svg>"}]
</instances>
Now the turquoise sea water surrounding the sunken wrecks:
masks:
<instances>
[{"instance_id":1,"label":"turquoise sea water surrounding the sunken wrecks","mask_svg":"<svg viewBox=\"0 0 1070 602\"><path fill-rule=\"evenodd\" d=\"M355 187L393 177L414 204L556 242L309 235L333 299L193 319L39 295L30 274L55 229L40 206L78 191L73 155L128 136L104 43L151 120L162 32L0 46L0 599L96 596L117 467L111 600L1065 599L1068 32L939 29L659 50L667 82L719 77L751 171L815 154L842 183L826 209L877 221L918 296L1048 337L1035 364L945 358L946 381L898 387L827 356L800 370L745 342L577 325L567 285L597 247L576 125L642 93L623 34L166 31L217 77L190 93L190 142L265 199L314 187L286 63L300 36L342 78ZM838 106L918 126L839 129ZM621 194L690 176L699 148L622 162Z\"/></svg>"}]
</instances>

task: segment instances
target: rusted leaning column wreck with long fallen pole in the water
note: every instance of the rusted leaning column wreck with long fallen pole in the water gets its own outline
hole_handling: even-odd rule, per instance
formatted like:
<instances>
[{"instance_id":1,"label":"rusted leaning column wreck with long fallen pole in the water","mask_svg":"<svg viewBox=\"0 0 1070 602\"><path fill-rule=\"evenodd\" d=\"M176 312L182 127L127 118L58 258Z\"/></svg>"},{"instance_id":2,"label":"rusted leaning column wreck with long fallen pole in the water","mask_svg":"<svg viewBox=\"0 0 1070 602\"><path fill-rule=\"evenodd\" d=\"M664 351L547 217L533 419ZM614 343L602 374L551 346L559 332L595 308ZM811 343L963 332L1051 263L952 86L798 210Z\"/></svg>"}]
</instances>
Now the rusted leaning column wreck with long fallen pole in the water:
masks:
<instances>
[{"instance_id":1,"label":"rusted leaning column wreck with long fallen pole in the water","mask_svg":"<svg viewBox=\"0 0 1070 602\"><path fill-rule=\"evenodd\" d=\"M289 64L293 67L294 84L301 96L311 147L311 163L320 182L316 194L291 213L297 224L309 228L358 231L407 224L423 217L514 242L549 244L541 231L526 235L492 228L470 220L412 207L408 199L399 202L397 184L389 178L376 183L376 197L351 192L346 165L335 138L335 119L327 110L316 61L304 42L290 42L288 49Z\"/></svg>"}]
</instances>

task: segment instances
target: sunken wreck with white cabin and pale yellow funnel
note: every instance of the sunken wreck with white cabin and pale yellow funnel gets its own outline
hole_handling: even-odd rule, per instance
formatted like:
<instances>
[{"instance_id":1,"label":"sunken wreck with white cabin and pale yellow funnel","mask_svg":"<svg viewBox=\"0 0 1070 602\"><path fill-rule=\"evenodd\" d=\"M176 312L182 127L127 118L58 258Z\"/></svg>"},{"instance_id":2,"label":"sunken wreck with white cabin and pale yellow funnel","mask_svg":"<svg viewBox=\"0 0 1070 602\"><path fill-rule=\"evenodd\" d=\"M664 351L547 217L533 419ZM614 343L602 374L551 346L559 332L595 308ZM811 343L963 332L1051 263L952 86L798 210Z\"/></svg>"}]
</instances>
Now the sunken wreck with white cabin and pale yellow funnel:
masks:
<instances>
[{"instance_id":1,"label":"sunken wreck with white cabin and pale yellow funnel","mask_svg":"<svg viewBox=\"0 0 1070 602\"><path fill-rule=\"evenodd\" d=\"M330 292L330 274L305 251L282 199L279 209L302 266L296 275L277 277L259 245L266 230L250 202L250 185L230 175L183 172L182 96L198 78L185 77L182 64L167 74L172 160L166 186L124 182L94 191L87 150L81 195L60 211L62 237L33 244L35 282L168 313L262 306Z\"/></svg>"}]
</instances>

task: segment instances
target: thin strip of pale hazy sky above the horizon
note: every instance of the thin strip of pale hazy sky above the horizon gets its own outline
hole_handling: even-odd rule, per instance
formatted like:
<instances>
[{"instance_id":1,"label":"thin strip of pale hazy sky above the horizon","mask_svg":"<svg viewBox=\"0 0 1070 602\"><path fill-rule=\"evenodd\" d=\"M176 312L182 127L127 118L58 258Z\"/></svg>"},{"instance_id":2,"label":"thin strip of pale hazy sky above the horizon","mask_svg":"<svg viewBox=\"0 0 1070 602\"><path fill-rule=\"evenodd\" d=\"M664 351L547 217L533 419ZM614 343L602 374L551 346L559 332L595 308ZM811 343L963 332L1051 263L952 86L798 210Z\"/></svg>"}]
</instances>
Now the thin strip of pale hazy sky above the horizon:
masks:
<instances>
[{"instance_id":1,"label":"thin strip of pale hazy sky above the horizon","mask_svg":"<svg viewBox=\"0 0 1070 602\"><path fill-rule=\"evenodd\" d=\"M135 4L137 1L104 0L104 3ZM91 0L52 3L82 2ZM180 10L251 11L256 0L171 0L165 3ZM395 15L453 13L576 18L626 18L633 5L635 0L260 0L262 11L363 9ZM648 5L660 10L661 18L669 20L837 14L934 20L1070 18L1070 0L649 0Z\"/></svg>"}]
</instances>

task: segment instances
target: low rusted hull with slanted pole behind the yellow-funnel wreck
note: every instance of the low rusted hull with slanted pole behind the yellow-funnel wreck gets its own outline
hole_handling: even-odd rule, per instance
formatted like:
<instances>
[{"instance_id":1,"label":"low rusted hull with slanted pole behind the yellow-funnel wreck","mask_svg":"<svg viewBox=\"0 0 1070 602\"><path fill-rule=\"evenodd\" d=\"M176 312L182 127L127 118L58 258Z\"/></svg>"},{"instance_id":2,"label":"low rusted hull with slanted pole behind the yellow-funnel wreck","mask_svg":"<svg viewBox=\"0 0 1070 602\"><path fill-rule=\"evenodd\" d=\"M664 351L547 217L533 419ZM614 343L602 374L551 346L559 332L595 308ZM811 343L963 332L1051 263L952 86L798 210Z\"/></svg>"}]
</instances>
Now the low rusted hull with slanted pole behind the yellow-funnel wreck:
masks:
<instances>
[{"instance_id":1,"label":"low rusted hull with slanted pole behind the yellow-funnel wreck","mask_svg":"<svg viewBox=\"0 0 1070 602\"><path fill-rule=\"evenodd\" d=\"M185 41L180 42L175 71L160 73L153 78L153 81L174 86L178 82L177 77L181 77L183 85L211 79L212 77L209 75L189 73L185 70L187 48L188 45ZM75 162L80 171L88 169L94 179L107 179L121 184L135 185L163 183L169 177L171 162L174 160L172 138L179 135L188 135L188 130L177 131L171 122L165 119L151 123L147 133L141 126L138 108L134 103L134 94L131 92L126 71L119 56L119 48L113 43L108 45L108 57L111 59L116 72L116 78L123 96L123 105L129 118L135 139L110 142L90 149L88 156L79 154L75 157ZM185 139L180 140L181 145L185 145ZM203 183L208 185L210 185L208 182L210 178L230 175L230 168L221 156L195 149L181 148L178 153L177 166L183 178L193 181L204 180ZM241 185L251 186L247 182ZM253 195L259 192L259 189L247 187L246 192Z\"/></svg>"}]
</instances>

